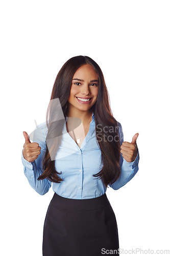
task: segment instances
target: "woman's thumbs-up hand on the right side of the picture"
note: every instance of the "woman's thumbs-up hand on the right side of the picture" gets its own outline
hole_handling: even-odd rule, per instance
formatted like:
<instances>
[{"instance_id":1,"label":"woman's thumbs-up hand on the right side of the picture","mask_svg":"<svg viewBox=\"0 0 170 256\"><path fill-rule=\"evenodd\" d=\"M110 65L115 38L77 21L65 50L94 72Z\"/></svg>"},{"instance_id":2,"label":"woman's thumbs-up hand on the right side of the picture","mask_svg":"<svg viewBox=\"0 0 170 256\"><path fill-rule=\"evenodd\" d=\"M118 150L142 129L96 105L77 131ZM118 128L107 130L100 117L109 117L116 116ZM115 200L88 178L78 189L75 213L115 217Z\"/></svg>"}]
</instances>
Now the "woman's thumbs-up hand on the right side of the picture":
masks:
<instances>
[{"instance_id":1,"label":"woman's thumbs-up hand on the right side of the picture","mask_svg":"<svg viewBox=\"0 0 170 256\"><path fill-rule=\"evenodd\" d=\"M133 162L137 156L138 148L137 148L136 140L138 135L139 134L136 133L133 136L131 143L124 141L120 146L121 148L120 153L122 153L122 156L125 158L127 162Z\"/></svg>"}]
</instances>

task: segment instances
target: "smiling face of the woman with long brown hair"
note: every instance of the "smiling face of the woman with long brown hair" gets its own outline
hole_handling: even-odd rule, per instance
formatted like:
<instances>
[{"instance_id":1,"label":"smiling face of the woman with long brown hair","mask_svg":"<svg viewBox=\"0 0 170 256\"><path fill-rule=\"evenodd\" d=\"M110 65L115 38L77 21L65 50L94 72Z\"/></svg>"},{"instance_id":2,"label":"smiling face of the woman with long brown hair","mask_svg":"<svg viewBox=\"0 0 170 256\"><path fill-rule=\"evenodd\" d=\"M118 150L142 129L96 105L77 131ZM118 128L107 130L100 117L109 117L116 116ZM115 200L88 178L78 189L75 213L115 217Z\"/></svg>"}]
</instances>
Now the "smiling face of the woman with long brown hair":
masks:
<instances>
[{"instance_id":1,"label":"smiling face of the woman with long brown hair","mask_svg":"<svg viewBox=\"0 0 170 256\"><path fill-rule=\"evenodd\" d=\"M87 111L96 102L98 90L98 75L91 65L83 65L72 77L68 102L79 110Z\"/></svg>"}]
</instances>

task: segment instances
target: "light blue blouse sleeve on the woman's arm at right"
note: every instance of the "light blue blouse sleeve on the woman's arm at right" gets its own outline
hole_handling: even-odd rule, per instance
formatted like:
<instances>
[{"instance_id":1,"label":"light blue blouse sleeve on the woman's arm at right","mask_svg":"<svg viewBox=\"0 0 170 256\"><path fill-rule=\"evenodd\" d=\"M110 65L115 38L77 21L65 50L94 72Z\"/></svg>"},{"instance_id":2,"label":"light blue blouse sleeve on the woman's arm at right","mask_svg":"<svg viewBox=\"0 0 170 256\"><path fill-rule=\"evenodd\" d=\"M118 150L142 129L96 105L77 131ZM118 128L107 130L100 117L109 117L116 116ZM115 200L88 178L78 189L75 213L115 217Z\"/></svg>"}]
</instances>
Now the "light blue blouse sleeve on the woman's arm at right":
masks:
<instances>
[{"instance_id":1,"label":"light blue blouse sleeve on the woman's arm at right","mask_svg":"<svg viewBox=\"0 0 170 256\"><path fill-rule=\"evenodd\" d=\"M124 142L124 134L122 130L122 125L118 123L118 136L120 140L120 146ZM138 148L137 148L138 151ZM109 184L110 187L113 189L117 190L120 187L123 187L125 184L127 184L137 173L139 167L138 167L138 162L139 162L139 151L137 152L137 156L133 162L127 162L125 158L122 156L120 153L120 176L119 178L111 185Z\"/></svg>"}]
</instances>

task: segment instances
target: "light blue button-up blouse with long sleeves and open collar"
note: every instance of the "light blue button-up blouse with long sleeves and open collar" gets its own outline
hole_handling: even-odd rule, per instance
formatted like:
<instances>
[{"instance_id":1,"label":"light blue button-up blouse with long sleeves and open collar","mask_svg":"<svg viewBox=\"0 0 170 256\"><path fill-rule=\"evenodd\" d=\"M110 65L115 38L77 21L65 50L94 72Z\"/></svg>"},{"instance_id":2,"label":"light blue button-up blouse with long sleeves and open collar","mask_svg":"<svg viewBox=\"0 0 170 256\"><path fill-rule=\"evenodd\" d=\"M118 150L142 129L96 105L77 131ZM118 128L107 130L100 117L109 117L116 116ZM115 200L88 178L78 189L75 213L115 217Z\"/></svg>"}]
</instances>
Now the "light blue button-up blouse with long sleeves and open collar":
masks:
<instances>
[{"instance_id":1,"label":"light blue button-up blouse with long sleeves and open collar","mask_svg":"<svg viewBox=\"0 0 170 256\"><path fill-rule=\"evenodd\" d=\"M67 120L67 117L66 117ZM122 125L118 122L118 136L120 145L124 141ZM52 182L44 179L37 180L42 174L42 155L45 151L45 138L47 135L46 123L41 123L34 131L33 142L37 142L41 147L41 154L33 162L28 162L21 154L23 171L31 187L38 194L44 195L50 189ZM133 162L127 162L120 154L120 176L112 185L113 189L119 189L128 183L138 171L139 152ZM70 137L66 131L66 124L63 126L62 141L55 158L55 166L59 175L64 181L53 182L53 190L61 197L72 199L89 199L100 197L105 194L107 187L102 179L93 177L103 165L101 164L101 150L98 146L95 133L94 114L90 122L89 131L83 140L81 147Z\"/></svg>"}]
</instances>

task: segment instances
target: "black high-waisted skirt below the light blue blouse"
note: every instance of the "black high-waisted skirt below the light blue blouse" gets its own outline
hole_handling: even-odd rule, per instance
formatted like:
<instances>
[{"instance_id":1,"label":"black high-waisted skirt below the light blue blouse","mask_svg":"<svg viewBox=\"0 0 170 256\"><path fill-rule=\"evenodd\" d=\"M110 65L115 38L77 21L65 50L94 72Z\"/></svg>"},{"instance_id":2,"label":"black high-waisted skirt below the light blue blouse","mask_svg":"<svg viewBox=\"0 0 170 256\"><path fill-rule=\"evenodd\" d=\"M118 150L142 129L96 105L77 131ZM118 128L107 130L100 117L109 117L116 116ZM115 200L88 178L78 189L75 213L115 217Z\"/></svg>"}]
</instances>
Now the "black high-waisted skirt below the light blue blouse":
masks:
<instances>
[{"instance_id":1,"label":"black high-waisted skirt below the light blue blouse","mask_svg":"<svg viewBox=\"0 0 170 256\"><path fill-rule=\"evenodd\" d=\"M90 199L54 193L43 226L43 256L99 256L114 250L119 255L118 248L116 218L106 193Z\"/></svg>"}]
</instances>

